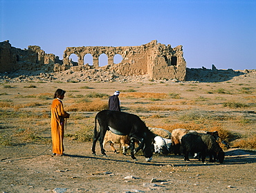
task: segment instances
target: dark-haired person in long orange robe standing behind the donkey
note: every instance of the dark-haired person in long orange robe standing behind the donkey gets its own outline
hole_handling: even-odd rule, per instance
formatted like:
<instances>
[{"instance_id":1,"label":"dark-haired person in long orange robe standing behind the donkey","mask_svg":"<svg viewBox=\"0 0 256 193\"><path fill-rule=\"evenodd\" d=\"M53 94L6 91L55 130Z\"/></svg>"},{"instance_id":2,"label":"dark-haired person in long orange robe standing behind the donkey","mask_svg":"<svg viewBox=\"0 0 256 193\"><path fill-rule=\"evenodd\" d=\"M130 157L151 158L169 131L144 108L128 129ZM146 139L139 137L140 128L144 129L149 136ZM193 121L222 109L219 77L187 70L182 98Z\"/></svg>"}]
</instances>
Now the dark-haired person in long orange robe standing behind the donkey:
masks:
<instances>
[{"instance_id":1,"label":"dark-haired person in long orange robe standing behind the donkey","mask_svg":"<svg viewBox=\"0 0 256 193\"><path fill-rule=\"evenodd\" d=\"M64 111L62 100L66 91L57 89L54 94L51 106L51 134L53 141L53 156L62 156L64 151L64 118L69 118L69 114Z\"/></svg>"}]
</instances>

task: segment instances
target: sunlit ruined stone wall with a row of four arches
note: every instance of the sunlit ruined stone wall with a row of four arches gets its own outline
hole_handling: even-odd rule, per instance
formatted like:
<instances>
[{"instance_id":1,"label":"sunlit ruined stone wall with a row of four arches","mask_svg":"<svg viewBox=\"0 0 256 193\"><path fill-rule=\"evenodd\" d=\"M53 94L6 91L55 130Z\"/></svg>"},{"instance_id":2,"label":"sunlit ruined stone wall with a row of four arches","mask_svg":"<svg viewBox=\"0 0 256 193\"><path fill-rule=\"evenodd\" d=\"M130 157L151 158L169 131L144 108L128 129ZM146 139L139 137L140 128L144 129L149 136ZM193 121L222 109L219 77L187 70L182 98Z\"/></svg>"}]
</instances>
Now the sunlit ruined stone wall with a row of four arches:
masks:
<instances>
[{"instance_id":1,"label":"sunlit ruined stone wall with a row of four arches","mask_svg":"<svg viewBox=\"0 0 256 193\"><path fill-rule=\"evenodd\" d=\"M182 46L172 48L170 45L157 43L156 40L142 46L83 46L68 47L64 51L62 68L82 70L86 68L99 68L99 57L104 53L108 57L107 68L120 75L145 75L152 79L185 80L186 62L183 57ZM73 66L71 54L78 57L78 66ZM84 64L84 56L91 54L93 66ZM113 57L119 54L122 62L113 64Z\"/></svg>"}]
</instances>

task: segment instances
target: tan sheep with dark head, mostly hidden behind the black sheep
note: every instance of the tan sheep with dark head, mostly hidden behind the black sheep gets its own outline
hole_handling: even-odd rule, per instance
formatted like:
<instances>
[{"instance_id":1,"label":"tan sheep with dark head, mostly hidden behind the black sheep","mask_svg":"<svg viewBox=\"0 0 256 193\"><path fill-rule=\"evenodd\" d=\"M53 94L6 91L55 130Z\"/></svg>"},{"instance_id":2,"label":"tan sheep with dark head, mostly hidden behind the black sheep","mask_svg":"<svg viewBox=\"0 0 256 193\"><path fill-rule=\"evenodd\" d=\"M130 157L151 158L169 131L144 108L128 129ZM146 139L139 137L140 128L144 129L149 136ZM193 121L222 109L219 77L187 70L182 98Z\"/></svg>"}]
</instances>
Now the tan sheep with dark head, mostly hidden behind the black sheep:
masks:
<instances>
[{"instance_id":1,"label":"tan sheep with dark head, mostly hidden behind the black sheep","mask_svg":"<svg viewBox=\"0 0 256 193\"><path fill-rule=\"evenodd\" d=\"M183 136L185 136L185 134L188 134L188 133L194 133L194 134L209 134L211 136L214 136L214 138L216 140L219 139L219 134L218 134L218 131L193 131L193 130L188 130L188 129L174 129L172 131L172 147L173 147L173 151L174 151L174 154L181 154L182 152L182 146L181 146L181 138Z\"/></svg>"}]
</instances>

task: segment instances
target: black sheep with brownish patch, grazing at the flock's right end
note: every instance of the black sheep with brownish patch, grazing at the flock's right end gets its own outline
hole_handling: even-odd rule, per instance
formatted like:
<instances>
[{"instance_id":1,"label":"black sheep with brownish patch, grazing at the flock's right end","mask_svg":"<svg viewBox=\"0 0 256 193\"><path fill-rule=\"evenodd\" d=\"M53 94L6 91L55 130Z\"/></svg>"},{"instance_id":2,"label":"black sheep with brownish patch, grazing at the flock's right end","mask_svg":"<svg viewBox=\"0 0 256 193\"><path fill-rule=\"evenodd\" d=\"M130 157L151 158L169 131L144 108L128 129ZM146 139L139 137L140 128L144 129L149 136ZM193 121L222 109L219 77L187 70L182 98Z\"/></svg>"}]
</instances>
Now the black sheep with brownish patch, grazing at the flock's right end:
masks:
<instances>
[{"instance_id":1,"label":"black sheep with brownish patch, grazing at the flock's right end","mask_svg":"<svg viewBox=\"0 0 256 193\"><path fill-rule=\"evenodd\" d=\"M184 160L189 160L189 153L201 152L201 160L204 163L206 154L210 155L210 161L219 160L219 163L223 163L225 153L217 143L216 139L209 134L195 134L188 133L181 138L181 144L183 146ZM214 156L212 160L211 156Z\"/></svg>"}]
</instances>

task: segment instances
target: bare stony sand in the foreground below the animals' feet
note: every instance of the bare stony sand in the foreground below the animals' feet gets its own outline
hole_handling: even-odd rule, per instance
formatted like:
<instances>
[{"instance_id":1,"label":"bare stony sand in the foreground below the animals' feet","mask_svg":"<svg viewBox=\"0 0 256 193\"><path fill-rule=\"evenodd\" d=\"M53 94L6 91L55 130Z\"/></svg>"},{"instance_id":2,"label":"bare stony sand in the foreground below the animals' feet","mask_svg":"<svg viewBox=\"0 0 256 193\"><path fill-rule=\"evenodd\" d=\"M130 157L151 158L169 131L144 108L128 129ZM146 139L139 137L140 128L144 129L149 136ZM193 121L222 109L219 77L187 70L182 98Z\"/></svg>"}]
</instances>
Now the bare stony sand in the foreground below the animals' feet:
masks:
<instances>
[{"instance_id":1,"label":"bare stony sand in the foreground below the animals' feet","mask_svg":"<svg viewBox=\"0 0 256 193\"><path fill-rule=\"evenodd\" d=\"M65 140L66 156L51 156L48 145L1 148L2 192L255 192L256 155L229 149L223 164L182 156L91 154L91 143ZM97 144L97 147L99 145ZM4 155L4 156L3 156ZM152 182L152 179L155 181Z\"/></svg>"}]
</instances>

